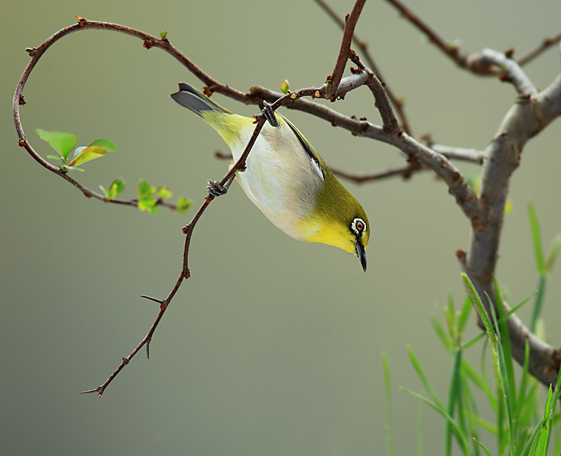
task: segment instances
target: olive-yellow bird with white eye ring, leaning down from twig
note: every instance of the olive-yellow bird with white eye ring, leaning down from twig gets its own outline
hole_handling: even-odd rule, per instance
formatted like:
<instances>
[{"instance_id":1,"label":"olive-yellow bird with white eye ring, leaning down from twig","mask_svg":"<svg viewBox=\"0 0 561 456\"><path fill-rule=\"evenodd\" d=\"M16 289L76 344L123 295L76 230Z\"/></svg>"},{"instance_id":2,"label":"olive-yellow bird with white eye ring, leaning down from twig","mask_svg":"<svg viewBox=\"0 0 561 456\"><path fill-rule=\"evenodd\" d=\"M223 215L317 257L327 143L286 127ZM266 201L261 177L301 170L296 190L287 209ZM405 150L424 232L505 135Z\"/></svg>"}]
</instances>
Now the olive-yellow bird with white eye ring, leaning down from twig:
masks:
<instances>
[{"instance_id":1,"label":"olive-yellow bird with white eye ring, leaning down from twig","mask_svg":"<svg viewBox=\"0 0 561 456\"><path fill-rule=\"evenodd\" d=\"M239 116L210 100L196 88L179 84L171 98L201 116L230 147L237 161L255 129L254 119ZM366 271L370 227L366 213L337 180L297 128L264 103L269 121L255 141L246 169L236 180L264 215L299 241L320 242L358 256ZM229 187L208 181L213 196Z\"/></svg>"}]
</instances>

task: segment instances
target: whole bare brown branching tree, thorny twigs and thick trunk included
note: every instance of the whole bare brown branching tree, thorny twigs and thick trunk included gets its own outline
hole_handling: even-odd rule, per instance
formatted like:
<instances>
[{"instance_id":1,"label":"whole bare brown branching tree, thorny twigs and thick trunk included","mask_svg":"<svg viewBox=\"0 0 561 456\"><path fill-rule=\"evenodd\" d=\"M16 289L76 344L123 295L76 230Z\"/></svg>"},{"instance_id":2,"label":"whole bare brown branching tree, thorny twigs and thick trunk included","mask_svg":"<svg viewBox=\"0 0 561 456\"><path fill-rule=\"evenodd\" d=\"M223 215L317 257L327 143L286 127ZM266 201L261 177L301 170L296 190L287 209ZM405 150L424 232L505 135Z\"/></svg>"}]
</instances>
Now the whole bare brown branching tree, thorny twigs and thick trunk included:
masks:
<instances>
[{"instance_id":1,"label":"whole bare brown branching tree, thorny twigs and thick trunk included","mask_svg":"<svg viewBox=\"0 0 561 456\"><path fill-rule=\"evenodd\" d=\"M550 121L553 121L553 119L557 116L560 116L561 76L558 76L557 79L555 79L555 81L546 88L546 90L538 92L532 85L532 82L527 79L527 76L525 76L520 69L520 65L524 62L521 62L520 65L518 65L514 60L512 60L511 55L503 55L489 50L483 50L478 54L470 56L461 55L457 48L447 45L447 43L445 43L445 41L441 39L431 27L426 25L420 18L413 15L411 11L409 11L408 8L406 8L399 0L388 1L393 4L393 6L396 6L396 8L400 9L407 19L426 33L431 41L444 51L446 55L457 62L459 66L470 69L477 74L500 74L501 79L513 83L520 93L521 96L518 99L518 102L506 115L503 124L499 129L499 133L496 135L496 138L492 141L489 147L487 147L485 152L433 145L431 142L428 142L428 145L423 145L408 135L407 130L405 130L405 133L403 132L403 125L400 125L396 119L396 116L393 114L393 110L391 109L391 105L388 102L387 90L384 89L384 84L379 81L377 76L375 76L370 69L360 62L358 55L352 53L350 50L354 27L356 26L356 22L360 16L360 11L363 8L365 0L356 1L353 12L346 20L342 46L339 51L339 57L337 58L337 64L335 65L332 77L320 88L301 89L293 93L288 93L287 95L275 93L259 86L251 88L250 93L248 94L243 93L231 88L230 86L219 83L215 79L212 79L211 76L203 72L202 69L196 66L193 62L191 62L191 60L172 46L168 39L158 39L155 36L151 36L144 32L140 32L139 30L124 27L122 25L111 24L108 22L94 22L79 18L79 22L77 24L66 27L53 36L50 36L50 38L43 42L39 48L27 49L32 59L29 62L29 65L27 65L25 72L22 74L20 82L15 90L13 104L15 128L18 131L19 145L21 147L25 147L27 152L29 152L33 159L38 161L41 166L57 175L60 175L60 177L80 189L86 196L104 200L103 196L97 195L95 192L85 189L79 185L78 182L68 177L66 173L62 173L58 168L45 161L41 156L39 156L39 154L36 154L32 146L25 138L20 121L19 109L20 104L24 104L22 92L32 69L39 61L39 58L41 58L41 55L43 55L43 53L45 53L45 51L52 46L53 43L61 39L63 36L84 29L104 29L129 34L142 39L144 43L143 46L147 49L152 47L160 48L172 55L176 60L184 65L184 67L187 67L189 71L198 77L198 79L205 83L205 93L207 95L211 95L213 92L219 92L223 95L227 95L229 98L233 98L234 100L245 104L258 104L260 101L266 100L273 103L273 109L277 109L280 105L285 105L289 109L300 109L304 112L308 112L309 114L313 114L314 116L318 116L321 119L330 121L330 123L334 126L346 128L351 131L353 135L360 135L391 144L400 149L400 151L408 157L409 163L406 166L374 173L374 175L377 175L374 178L398 174L407 177L407 175L410 175L410 173L417 169L432 169L436 175L442 177L442 180L446 182L450 193L454 195L458 205L471 221L471 245L468 253L459 252L459 259L461 260L464 269L466 269L468 274L471 276L478 292L483 295L483 292L486 291L489 296L494 296L492 280L490 280L490 278L492 277L492 274L494 274L494 268L496 266L496 255L499 248L503 210L504 204L506 203L506 195L508 194L508 181L511 174L518 166L520 153L522 152L522 147L525 145L525 142L539 133L539 131L550 123ZM365 45L360 47L365 49ZM545 43L542 48L545 48ZM542 49L534 51L534 55L529 56L527 60L534 58L534 56L539 54L541 51ZM348 58L352 58L359 68L353 72L351 76L342 78L346 60ZM372 65L372 67L373 66L374 65ZM311 98L336 100L337 98L343 98L350 90L355 90L363 85L368 86L374 94L374 98L376 100L375 106L379 110L384 122L383 127L376 126L363 120L358 121L355 118L344 116L333 109L319 105L316 102L300 99L303 96L311 96ZM405 116L400 111L398 104L395 100L392 100L392 102L393 105L396 106L396 109L398 109L400 118L404 121ZM264 125L264 122L264 116L256 116L257 124L252 138L245 148L240 160L222 178L222 185L229 180L231 175L244 168L245 159L250 153L250 149L255 142L257 135L259 135L259 131ZM479 196L476 195L468 186L464 176L461 175L459 170L457 170L452 163L450 163L449 159L464 159L482 163L482 185ZM343 174L343 172L339 171L339 175ZM365 177L353 177L348 173L347 177L360 181L367 180ZM503 185L504 182L506 182L506 185ZM114 380L116 375L119 374L123 367L130 362L130 359L133 358L133 356L135 356L142 347L146 346L147 354L149 353L149 344L159 321L161 321L165 309L168 308L171 300L177 293L177 290L179 290L184 279L189 279L190 271L188 260L191 236L196 223L201 215L203 215L206 208L208 208L212 200L212 196L207 196L191 222L183 229L183 232L186 235L183 251L183 265L180 277L177 279L173 290L170 292L168 297L165 298L165 300L158 300L153 297L144 296L147 299L160 304L160 311L149 332L140 344L138 344L131 352L131 354L126 358L123 358L121 365L114 371L107 381L104 382L104 384L96 389L83 391L84 393L97 392L97 395L101 397L108 384ZM114 201L114 203L131 204L130 201ZM513 354L515 355L515 358L520 361L520 352L522 352L523 361L523 347L525 340L528 340L530 344L530 372L544 384L549 384L552 376L559 369L561 352L553 349L553 347L541 342L534 335L530 334L527 328L525 328L525 326L523 326L515 316L511 316L508 324L509 329L511 330Z\"/></svg>"}]
</instances>

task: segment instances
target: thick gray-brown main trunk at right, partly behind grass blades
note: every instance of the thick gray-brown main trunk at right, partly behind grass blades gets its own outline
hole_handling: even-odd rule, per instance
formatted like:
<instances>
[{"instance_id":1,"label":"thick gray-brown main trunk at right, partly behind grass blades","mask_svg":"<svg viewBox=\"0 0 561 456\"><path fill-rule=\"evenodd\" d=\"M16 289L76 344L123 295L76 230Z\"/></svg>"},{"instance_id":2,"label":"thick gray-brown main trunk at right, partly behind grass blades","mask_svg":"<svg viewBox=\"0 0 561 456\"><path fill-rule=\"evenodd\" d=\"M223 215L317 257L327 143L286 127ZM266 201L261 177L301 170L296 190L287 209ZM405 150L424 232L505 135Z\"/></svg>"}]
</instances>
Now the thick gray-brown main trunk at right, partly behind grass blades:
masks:
<instances>
[{"instance_id":1,"label":"thick gray-brown main trunk at right, partly behind grass blades","mask_svg":"<svg viewBox=\"0 0 561 456\"><path fill-rule=\"evenodd\" d=\"M506 114L499 132L485 150L480 199L489 208L486 223L473 226L464 269L480 296L494 299L494 275L499 251L504 208L511 175L530 138L561 115L561 75L546 90L520 97ZM489 311L489 302L484 302ZM493 302L496 305L496 302ZM516 316L508 318L513 356L524 363L525 341L529 343L529 372L543 384L555 383L561 351L530 333Z\"/></svg>"}]
</instances>

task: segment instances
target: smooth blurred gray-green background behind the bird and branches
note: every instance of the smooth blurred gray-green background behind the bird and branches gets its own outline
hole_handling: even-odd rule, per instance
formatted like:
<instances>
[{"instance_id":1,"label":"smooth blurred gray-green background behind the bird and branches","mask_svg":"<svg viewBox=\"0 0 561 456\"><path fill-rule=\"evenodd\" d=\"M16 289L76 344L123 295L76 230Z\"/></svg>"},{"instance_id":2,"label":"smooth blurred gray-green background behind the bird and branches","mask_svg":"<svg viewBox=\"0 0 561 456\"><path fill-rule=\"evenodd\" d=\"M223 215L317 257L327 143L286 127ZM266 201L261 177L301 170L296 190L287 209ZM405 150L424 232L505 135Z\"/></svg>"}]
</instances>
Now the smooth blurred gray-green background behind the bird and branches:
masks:
<instances>
[{"instance_id":1,"label":"smooth blurred gray-green background behind the bird and branches","mask_svg":"<svg viewBox=\"0 0 561 456\"><path fill-rule=\"evenodd\" d=\"M340 15L352 1L332 1ZM522 55L560 31L557 0L408 4L464 50ZM11 100L29 61L25 48L75 22L117 22L170 41L239 90L318 86L332 71L341 32L309 1L13 1L1 6L0 51L0 446L4 455L379 455L385 453L386 351L393 383L396 454L416 451L422 392L407 356L411 344L442 398L451 360L429 316L449 293L464 299L454 253L468 246L468 222L429 173L409 182L346 186L372 224L364 274L356 257L299 243L273 227L239 187L215 201L196 227L192 277L151 345L102 399L97 387L144 337L157 314L147 294L165 297L181 268L182 226L194 215L84 198L18 147ZM515 99L495 79L466 74L384 1L367 2L357 33L370 43L388 83L407 102L414 134L484 149ZM540 88L560 71L557 50L527 67ZM177 82L201 87L157 49L123 34L86 31L49 49L25 88L22 121L34 130L109 138L117 152L74 177L91 189L115 177L133 198L142 177L198 206L205 180L219 179L227 152L201 119L173 103ZM255 107L215 95L241 114ZM367 90L333 107L379 123ZM299 112L282 111L328 163L375 170L403 161L386 145L353 138ZM536 203L547 248L561 231L561 123L529 142L512 180L498 279L513 302L537 276L526 204ZM461 165L466 173L475 171ZM175 198L174 196L174 198ZM548 284L548 340L559 346L561 283ZM522 318L528 321L529 308ZM440 315L439 315L440 316ZM470 335L477 330L471 318ZM477 362L480 345L468 356ZM426 454L440 454L444 421L424 408ZM482 441L487 436L483 434Z\"/></svg>"}]
</instances>

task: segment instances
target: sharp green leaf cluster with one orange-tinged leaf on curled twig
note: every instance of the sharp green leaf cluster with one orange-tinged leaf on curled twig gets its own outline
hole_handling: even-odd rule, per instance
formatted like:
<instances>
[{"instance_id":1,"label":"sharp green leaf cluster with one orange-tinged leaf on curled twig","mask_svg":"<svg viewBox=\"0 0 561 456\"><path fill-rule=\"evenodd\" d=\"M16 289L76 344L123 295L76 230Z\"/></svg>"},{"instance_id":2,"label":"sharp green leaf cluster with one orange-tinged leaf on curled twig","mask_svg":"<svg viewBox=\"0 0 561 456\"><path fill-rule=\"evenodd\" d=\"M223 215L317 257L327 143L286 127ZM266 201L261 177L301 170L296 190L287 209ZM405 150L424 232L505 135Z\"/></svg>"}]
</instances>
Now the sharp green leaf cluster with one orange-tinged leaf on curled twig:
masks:
<instances>
[{"instance_id":1,"label":"sharp green leaf cluster with one orange-tinged leaf on curled twig","mask_svg":"<svg viewBox=\"0 0 561 456\"><path fill-rule=\"evenodd\" d=\"M83 165L88 161L98 159L104 156L107 152L115 152L115 145L109 140L95 140L89 146L76 147L72 159L69 160L70 152L74 149L78 137L72 133L63 133L62 131L46 131L37 128L36 133L43 141L49 143L58 155L47 155L48 159L57 160L60 162L59 169L63 173L68 173L72 170L83 171L79 165Z\"/></svg>"}]
</instances>

